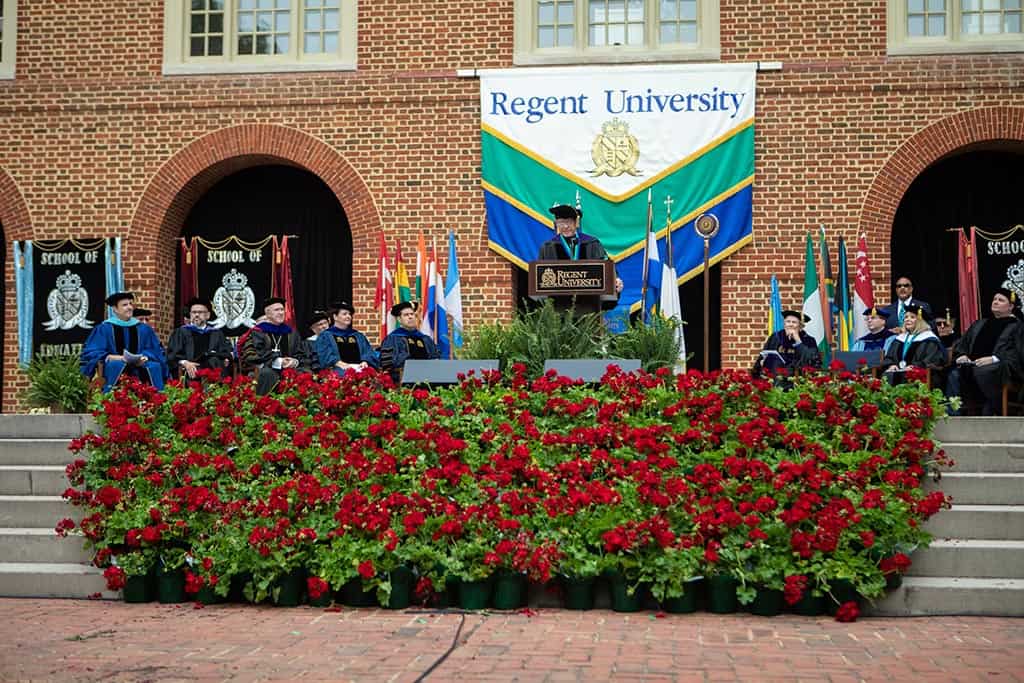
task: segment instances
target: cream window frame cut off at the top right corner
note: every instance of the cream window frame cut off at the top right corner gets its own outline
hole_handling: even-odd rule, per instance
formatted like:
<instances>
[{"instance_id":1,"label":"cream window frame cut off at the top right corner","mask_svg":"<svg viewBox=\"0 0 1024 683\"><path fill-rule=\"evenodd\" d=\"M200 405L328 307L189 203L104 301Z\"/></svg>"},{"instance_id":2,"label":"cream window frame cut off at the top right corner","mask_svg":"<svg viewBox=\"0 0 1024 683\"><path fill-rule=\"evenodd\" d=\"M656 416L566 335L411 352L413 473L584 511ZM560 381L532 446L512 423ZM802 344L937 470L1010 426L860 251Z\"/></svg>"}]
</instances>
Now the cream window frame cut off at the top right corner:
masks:
<instances>
[{"instance_id":1,"label":"cream window frame cut off at the top right corner","mask_svg":"<svg viewBox=\"0 0 1024 683\"><path fill-rule=\"evenodd\" d=\"M946 34L910 37L906 35L906 0L889 0L889 54L948 54L970 52L1024 52L1024 34L961 33L961 0L946 0Z\"/></svg>"}]
</instances>

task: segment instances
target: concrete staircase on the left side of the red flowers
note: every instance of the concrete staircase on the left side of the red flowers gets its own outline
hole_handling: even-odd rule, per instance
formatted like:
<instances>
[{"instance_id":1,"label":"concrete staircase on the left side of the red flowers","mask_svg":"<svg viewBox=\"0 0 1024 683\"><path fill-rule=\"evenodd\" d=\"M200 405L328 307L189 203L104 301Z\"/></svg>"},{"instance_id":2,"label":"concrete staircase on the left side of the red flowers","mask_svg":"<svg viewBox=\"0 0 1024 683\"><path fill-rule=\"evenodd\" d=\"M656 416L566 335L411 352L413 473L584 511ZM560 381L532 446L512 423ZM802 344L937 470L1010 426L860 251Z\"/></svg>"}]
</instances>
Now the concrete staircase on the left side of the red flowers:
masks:
<instances>
[{"instance_id":1,"label":"concrete staircase on the left side of the red flowers","mask_svg":"<svg viewBox=\"0 0 1024 683\"><path fill-rule=\"evenodd\" d=\"M68 444L92 426L85 415L0 415L0 596L117 596L88 563L82 538L53 530L81 517L60 494L74 460Z\"/></svg>"}]
</instances>

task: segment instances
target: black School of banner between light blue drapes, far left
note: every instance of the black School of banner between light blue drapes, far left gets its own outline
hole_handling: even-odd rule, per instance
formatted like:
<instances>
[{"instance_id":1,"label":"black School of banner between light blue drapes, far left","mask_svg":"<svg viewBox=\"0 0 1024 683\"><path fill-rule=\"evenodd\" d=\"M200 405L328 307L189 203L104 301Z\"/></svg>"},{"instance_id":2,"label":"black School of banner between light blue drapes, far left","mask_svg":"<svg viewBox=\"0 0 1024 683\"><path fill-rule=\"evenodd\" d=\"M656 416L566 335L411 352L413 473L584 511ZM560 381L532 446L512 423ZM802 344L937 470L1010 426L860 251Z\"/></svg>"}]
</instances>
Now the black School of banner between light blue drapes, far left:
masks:
<instances>
[{"instance_id":1,"label":"black School of banner between light blue drapes, far left","mask_svg":"<svg viewBox=\"0 0 1024 683\"><path fill-rule=\"evenodd\" d=\"M106 240L32 243L33 356L79 355L106 318Z\"/></svg>"}]
</instances>

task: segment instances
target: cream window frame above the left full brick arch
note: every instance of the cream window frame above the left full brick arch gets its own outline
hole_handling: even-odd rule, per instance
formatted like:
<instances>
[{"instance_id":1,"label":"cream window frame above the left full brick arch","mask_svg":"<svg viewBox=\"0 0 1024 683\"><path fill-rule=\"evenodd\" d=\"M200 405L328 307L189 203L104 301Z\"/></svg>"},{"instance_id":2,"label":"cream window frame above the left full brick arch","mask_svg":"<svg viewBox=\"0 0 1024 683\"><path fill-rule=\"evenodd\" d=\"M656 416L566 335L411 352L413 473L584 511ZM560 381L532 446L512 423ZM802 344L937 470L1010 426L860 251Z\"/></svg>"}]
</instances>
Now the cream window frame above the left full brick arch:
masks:
<instances>
[{"instance_id":1,"label":"cream window frame above the left full brick arch","mask_svg":"<svg viewBox=\"0 0 1024 683\"><path fill-rule=\"evenodd\" d=\"M358 1L341 0L338 54L302 54L302 0L292 0L290 44L287 54L236 54L238 0L224 0L224 54L189 54L188 0L164 0L165 76L201 74L268 74L280 72L354 71L358 38Z\"/></svg>"}]
</instances>

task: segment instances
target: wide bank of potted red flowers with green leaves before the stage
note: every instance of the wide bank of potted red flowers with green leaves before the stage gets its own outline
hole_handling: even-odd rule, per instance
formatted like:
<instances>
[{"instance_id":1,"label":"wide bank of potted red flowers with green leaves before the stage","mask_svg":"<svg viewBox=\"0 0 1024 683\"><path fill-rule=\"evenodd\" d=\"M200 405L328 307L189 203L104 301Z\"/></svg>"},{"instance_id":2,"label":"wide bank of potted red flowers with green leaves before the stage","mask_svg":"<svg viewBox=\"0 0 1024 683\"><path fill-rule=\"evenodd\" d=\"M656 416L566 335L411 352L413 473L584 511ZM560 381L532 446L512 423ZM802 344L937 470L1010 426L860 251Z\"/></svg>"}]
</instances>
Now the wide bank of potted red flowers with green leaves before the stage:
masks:
<instances>
[{"instance_id":1,"label":"wide bank of potted red flowers with green leaves before the stage","mask_svg":"<svg viewBox=\"0 0 1024 683\"><path fill-rule=\"evenodd\" d=\"M921 486L942 454L916 382L611 369L587 386L516 368L428 392L286 375L271 396L210 381L104 397L66 498L112 588L187 565L191 589L245 573L259 599L303 567L316 591L354 579L386 598L408 565L421 589L614 572L658 599L713 574L743 602L837 581L877 597L947 504Z\"/></svg>"}]
</instances>

